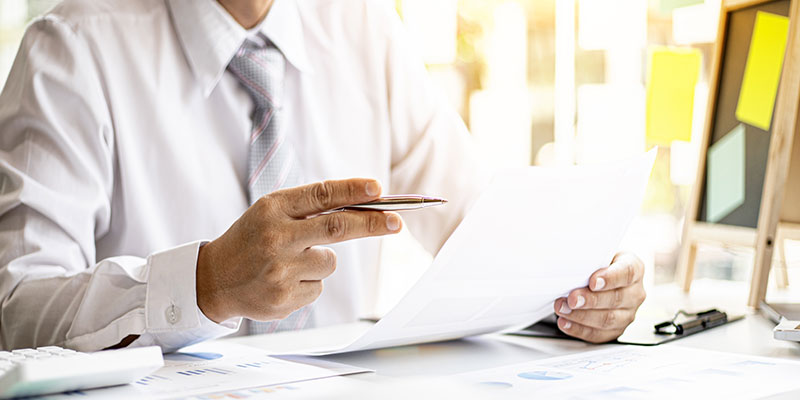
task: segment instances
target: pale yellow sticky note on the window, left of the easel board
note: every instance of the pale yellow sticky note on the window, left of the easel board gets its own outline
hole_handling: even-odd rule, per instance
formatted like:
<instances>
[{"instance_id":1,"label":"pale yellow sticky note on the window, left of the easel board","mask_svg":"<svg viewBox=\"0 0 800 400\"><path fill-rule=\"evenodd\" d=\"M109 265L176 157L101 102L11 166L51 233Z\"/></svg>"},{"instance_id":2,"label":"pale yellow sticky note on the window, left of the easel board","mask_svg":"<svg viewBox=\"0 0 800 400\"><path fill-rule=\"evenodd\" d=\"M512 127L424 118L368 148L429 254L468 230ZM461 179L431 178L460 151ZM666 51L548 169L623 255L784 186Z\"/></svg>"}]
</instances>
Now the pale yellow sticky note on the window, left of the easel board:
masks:
<instances>
[{"instance_id":1,"label":"pale yellow sticky note on the window, left of the easel board","mask_svg":"<svg viewBox=\"0 0 800 400\"><path fill-rule=\"evenodd\" d=\"M694 90L700 75L697 49L655 48L647 79L647 140L669 146L692 139Z\"/></svg>"}]
</instances>

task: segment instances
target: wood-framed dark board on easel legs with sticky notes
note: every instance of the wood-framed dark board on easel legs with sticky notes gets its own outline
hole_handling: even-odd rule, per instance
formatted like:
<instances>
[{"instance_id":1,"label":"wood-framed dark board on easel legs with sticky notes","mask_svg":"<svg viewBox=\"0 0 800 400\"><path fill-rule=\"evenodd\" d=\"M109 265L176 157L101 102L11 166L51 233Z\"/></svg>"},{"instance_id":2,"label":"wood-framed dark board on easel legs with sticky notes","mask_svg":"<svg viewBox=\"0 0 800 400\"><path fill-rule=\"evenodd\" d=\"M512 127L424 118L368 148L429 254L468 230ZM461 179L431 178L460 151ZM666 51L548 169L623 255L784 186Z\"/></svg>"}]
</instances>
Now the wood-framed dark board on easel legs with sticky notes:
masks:
<instances>
[{"instance_id":1,"label":"wood-framed dark board on easel legs with sticky notes","mask_svg":"<svg viewBox=\"0 0 800 400\"><path fill-rule=\"evenodd\" d=\"M800 0L721 7L677 275L689 291L700 242L753 247L748 305L757 308L773 254L800 239ZM788 284L785 265L776 278Z\"/></svg>"}]
</instances>

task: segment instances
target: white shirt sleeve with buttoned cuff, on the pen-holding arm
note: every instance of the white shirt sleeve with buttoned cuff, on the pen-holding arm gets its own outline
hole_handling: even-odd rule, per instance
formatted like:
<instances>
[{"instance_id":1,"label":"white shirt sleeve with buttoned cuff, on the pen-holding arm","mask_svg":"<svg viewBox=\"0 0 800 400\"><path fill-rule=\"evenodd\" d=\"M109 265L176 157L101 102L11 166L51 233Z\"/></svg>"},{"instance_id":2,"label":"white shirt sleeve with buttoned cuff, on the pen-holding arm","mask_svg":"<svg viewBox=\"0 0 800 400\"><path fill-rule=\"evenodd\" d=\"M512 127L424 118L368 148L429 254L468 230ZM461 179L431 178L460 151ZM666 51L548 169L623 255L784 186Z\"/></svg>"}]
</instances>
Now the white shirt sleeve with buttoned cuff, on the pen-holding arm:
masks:
<instances>
[{"instance_id":1,"label":"white shirt sleeve with buttoned cuff, on the pen-holding arm","mask_svg":"<svg viewBox=\"0 0 800 400\"><path fill-rule=\"evenodd\" d=\"M227 333L197 306L200 242L96 260L114 190L114 134L87 41L57 17L25 34L0 94L0 346L164 351Z\"/></svg>"}]
</instances>

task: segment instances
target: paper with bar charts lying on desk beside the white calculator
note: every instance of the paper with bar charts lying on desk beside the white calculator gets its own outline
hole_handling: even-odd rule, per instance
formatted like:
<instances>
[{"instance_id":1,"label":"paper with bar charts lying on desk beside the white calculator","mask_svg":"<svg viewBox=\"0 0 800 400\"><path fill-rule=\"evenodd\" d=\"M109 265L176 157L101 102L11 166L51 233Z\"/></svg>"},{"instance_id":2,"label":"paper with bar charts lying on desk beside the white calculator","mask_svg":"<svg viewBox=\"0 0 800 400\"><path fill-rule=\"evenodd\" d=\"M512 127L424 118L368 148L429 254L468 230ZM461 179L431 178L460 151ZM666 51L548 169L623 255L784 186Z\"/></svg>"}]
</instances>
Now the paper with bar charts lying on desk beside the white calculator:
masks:
<instances>
[{"instance_id":1,"label":"paper with bar charts lying on desk beside the white calculator","mask_svg":"<svg viewBox=\"0 0 800 400\"><path fill-rule=\"evenodd\" d=\"M164 367L130 385L79 392L80 398L173 399L349 375L369 370L301 357L291 361L224 341L201 343L164 356ZM75 398L75 393L48 398Z\"/></svg>"}]
</instances>

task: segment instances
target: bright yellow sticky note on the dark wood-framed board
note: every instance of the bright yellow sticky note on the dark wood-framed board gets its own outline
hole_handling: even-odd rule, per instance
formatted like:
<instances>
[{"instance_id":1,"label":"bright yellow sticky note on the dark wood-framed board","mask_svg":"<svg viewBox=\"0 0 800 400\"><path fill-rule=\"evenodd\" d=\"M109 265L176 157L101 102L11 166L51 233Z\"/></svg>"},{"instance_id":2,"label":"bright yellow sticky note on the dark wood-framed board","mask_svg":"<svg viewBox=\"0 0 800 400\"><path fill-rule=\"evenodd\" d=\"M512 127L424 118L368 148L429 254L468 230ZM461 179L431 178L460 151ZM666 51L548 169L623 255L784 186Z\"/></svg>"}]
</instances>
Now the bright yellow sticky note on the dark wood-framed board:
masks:
<instances>
[{"instance_id":1,"label":"bright yellow sticky note on the dark wood-framed board","mask_svg":"<svg viewBox=\"0 0 800 400\"><path fill-rule=\"evenodd\" d=\"M736 119L765 131L772 125L772 111L781 79L789 18L759 11L744 67Z\"/></svg>"}]
</instances>

